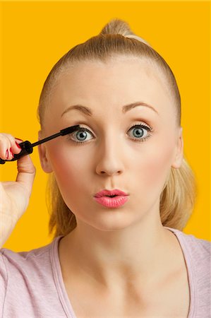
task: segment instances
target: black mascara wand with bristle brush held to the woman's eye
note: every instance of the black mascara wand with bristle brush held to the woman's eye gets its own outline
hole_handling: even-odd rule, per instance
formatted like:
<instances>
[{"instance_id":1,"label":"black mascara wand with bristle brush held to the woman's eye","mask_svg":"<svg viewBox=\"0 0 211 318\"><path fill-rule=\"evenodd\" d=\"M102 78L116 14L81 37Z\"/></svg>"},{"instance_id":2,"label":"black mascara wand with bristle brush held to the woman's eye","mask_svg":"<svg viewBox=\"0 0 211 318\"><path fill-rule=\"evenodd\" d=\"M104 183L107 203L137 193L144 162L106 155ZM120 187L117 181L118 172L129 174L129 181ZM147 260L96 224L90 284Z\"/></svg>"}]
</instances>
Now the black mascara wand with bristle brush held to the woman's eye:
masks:
<instances>
[{"instance_id":1,"label":"black mascara wand with bristle brush held to the woman's eye","mask_svg":"<svg viewBox=\"0 0 211 318\"><path fill-rule=\"evenodd\" d=\"M24 155L29 155L30 153L33 152L33 147L40 145L40 143L46 143L47 141L52 140L56 137L71 134L73 131L76 131L79 128L80 128L80 126L76 125L76 126L71 126L71 127L65 128L65 129L61 129L61 131L59 133L54 134L52 136L49 136L47 138L41 139L41 140L37 141L36 143L30 143L30 141L28 141L28 140L23 141L23 143L19 143L19 146L22 149L20 151L20 153L14 154L14 158L11 160L3 160L0 158L0 164L4 165L4 163L6 163L6 162L9 163L10 161L18 160L19 158L23 157Z\"/></svg>"}]
</instances>

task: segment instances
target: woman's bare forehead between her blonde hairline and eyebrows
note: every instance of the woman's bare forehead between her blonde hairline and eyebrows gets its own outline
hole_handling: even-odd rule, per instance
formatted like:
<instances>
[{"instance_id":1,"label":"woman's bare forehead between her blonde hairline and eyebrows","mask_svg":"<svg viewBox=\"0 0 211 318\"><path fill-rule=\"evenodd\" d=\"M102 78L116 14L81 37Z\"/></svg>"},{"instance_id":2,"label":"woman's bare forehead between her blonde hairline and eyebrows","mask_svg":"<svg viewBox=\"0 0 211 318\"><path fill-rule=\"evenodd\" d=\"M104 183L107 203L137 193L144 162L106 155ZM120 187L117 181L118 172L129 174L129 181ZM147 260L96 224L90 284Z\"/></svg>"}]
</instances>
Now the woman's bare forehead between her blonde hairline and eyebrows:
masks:
<instances>
[{"instance_id":1,"label":"woman's bare forehead between her blonde hairline and eyebrows","mask_svg":"<svg viewBox=\"0 0 211 318\"><path fill-rule=\"evenodd\" d=\"M71 104L122 107L141 100L157 110L172 103L164 75L157 66L135 57L106 62L81 61L60 73L52 90L51 105L60 112Z\"/></svg>"}]
</instances>

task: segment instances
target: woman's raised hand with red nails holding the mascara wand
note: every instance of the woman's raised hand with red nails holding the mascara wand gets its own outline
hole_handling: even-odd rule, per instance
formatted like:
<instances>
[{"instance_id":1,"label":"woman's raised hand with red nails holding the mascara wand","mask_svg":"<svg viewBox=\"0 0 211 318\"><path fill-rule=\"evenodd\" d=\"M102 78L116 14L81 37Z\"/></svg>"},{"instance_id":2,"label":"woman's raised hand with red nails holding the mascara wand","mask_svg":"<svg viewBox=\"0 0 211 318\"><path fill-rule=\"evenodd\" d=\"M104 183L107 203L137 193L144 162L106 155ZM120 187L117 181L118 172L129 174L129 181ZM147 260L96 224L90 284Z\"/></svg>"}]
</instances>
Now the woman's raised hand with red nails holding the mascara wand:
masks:
<instances>
[{"instance_id":1,"label":"woman's raised hand with red nails holding the mascara wand","mask_svg":"<svg viewBox=\"0 0 211 318\"><path fill-rule=\"evenodd\" d=\"M10 134L0 134L0 158L11 160L13 154L20 153L21 148L18 143L21 142ZM15 163L6 163L6 165L13 164ZM0 248L28 207L35 179L36 170L30 155L18 159L17 168L16 181L0 182ZM1 169L4 169L4 165Z\"/></svg>"}]
</instances>

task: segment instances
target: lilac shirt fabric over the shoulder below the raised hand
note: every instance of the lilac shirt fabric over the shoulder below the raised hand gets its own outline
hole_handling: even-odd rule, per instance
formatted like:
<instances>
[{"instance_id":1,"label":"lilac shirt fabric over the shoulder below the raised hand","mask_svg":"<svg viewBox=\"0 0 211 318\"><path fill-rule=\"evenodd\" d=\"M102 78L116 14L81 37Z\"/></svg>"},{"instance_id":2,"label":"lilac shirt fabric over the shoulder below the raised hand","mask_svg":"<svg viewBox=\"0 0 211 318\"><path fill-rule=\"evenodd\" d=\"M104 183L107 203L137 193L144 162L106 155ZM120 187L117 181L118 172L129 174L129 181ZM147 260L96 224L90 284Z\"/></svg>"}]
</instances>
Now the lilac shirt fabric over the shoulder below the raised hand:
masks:
<instances>
[{"instance_id":1,"label":"lilac shirt fabric over the shoulder below the raised hand","mask_svg":"<svg viewBox=\"0 0 211 318\"><path fill-rule=\"evenodd\" d=\"M64 317L53 266L57 241L28 252L0 250L0 317Z\"/></svg>"}]
</instances>

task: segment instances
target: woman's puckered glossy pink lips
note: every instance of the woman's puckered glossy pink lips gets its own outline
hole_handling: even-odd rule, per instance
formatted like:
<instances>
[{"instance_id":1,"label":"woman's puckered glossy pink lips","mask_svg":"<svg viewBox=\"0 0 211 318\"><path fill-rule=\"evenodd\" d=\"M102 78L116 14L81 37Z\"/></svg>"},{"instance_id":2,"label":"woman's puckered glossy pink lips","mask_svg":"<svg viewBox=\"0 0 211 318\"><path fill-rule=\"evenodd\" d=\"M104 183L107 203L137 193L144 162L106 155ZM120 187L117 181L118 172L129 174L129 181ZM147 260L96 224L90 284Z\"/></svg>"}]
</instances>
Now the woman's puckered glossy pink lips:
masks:
<instances>
[{"instance_id":1,"label":"woman's puckered glossy pink lips","mask_svg":"<svg viewBox=\"0 0 211 318\"><path fill-rule=\"evenodd\" d=\"M114 197L109 197L114 196ZM106 206L107 208L118 208L128 201L128 194L125 192L114 189L114 190L102 190L95 194L94 196L95 201L102 206Z\"/></svg>"}]
</instances>

